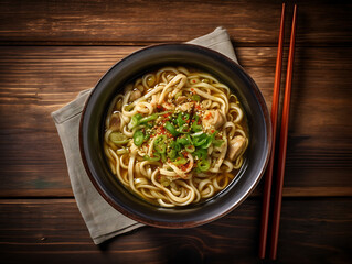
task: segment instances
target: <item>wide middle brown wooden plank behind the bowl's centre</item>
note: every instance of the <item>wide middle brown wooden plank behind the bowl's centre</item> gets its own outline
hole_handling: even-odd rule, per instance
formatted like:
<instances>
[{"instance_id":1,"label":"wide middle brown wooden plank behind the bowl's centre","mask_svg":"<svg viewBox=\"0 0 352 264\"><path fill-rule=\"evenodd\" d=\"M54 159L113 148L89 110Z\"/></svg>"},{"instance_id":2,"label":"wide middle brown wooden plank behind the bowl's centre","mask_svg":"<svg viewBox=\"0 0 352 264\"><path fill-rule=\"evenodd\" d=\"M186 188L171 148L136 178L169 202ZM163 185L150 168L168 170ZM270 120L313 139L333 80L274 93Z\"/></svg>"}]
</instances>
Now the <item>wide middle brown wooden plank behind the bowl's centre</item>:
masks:
<instances>
[{"instance_id":1,"label":"wide middle brown wooden plank behind the bowl's centre","mask_svg":"<svg viewBox=\"0 0 352 264\"><path fill-rule=\"evenodd\" d=\"M137 48L0 47L0 196L72 195L50 113ZM276 48L238 47L237 54L270 107ZM296 54L284 194L317 196L313 187L334 187L328 194L352 195L351 48Z\"/></svg>"}]
</instances>

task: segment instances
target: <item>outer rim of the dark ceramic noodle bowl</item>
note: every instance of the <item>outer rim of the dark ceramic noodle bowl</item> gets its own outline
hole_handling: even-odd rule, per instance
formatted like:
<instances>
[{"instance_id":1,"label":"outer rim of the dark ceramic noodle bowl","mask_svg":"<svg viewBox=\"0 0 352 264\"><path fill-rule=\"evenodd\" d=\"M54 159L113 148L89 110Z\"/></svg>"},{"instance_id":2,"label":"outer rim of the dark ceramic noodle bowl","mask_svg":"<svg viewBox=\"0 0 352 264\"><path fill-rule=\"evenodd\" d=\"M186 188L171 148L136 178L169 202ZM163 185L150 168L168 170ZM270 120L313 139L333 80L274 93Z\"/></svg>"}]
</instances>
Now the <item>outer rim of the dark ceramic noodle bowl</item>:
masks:
<instances>
[{"instance_id":1,"label":"outer rim of the dark ceramic noodle bowl","mask_svg":"<svg viewBox=\"0 0 352 264\"><path fill-rule=\"evenodd\" d=\"M131 211L125 209L124 207L121 207L120 205L118 205L115 200L113 200L102 188L102 186L99 185L99 183L96 180L96 178L94 177L94 175L90 172L90 167L88 165L88 161L87 157L85 155L85 145L84 145L84 141L83 141L83 123L84 123L84 118L85 118L85 113L86 113L86 109L88 107L88 103L90 101L90 98L94 96L94 92L97 90L96 88L99 86L99 84L104 80L105 76L107 76L117 65L124 63L125 61L128 61L130 57L138 55L139 53L143 53L147 52L151 48L158 48L158 47L182 47L182 46L190 46L190 47L194 47L198 50L203 50L206 53L213 53L216 54L216 56L221 57L221 59L226 61L227 63L233 64L234 66L236 66L237 68L239 68L239 70L242 70L242 74L245 75L245 77L249 80L249 82L252 82L252 88L253 88L253 92L255 94L255 99L257 100L258 105L260 106L260 110L263 111L263 117L264 117L264 123L266 125L266 154L265 154L265 160L263 162L262 168L257 175L257 177L255 178L255 180L252 183L250 187L246 189L245 195L243 195L239 199L236 200L236 202L228 207L226 210L224 210L222 213L215 215L212 218L207 218L204 220L199 220L199 221L184 221L184 222L166 222L166 221L153 221L150 220L146 217L141 217L138 215L132 213ZM131 54L125 56L124 58L121 58L120 61L116 62L100 78L99 80L96 82L96 85L94 86L93 90L90 91L88 98L85 101L84 108L82 110L82 116L79 119L79 130L78 130L78 143L79 143L79 152L81 152L81 157L83 161L83 165L85 168L85 172L88 175L88 178L90 180L90 183L94 185L95 189L99 193L99 195L117 211L121 212L122 215L125 215L126 217L136 220L138 222L145 223L147 226L152 226L152 227L157 227L157 228L171 228L171 229L179 229L179 228L194 228L198 226L202 226L209 222L212 222L214 220L217 220L222 217L224 217L225 215L230 213L231 211L233 211L235 208L237 208L252 193L253 190L256 188L256 186L258 185L258 183L260 182L266 166L268 164L269 161L269 156L270 156L270 151L271 151L271 144L273 144L273 139L271 139L271 120L270 120L270 114L268 112L268 108L266 105L266 101L264 99L264 96L262 94L262 91L259 90L258 86L256 85L256 82L253 80L253 78L245 72L245 69L237 64L236 62L234 62L233 59L231 59L230 57L223 55L222 53L204 47L204 46L200 46L196 44L189 44L189 43L161 43L161 44L154 44L154 45L149 45L147 47L142 47L139 48L138 51L132 52Z\"/></svg>"}]
</instances>

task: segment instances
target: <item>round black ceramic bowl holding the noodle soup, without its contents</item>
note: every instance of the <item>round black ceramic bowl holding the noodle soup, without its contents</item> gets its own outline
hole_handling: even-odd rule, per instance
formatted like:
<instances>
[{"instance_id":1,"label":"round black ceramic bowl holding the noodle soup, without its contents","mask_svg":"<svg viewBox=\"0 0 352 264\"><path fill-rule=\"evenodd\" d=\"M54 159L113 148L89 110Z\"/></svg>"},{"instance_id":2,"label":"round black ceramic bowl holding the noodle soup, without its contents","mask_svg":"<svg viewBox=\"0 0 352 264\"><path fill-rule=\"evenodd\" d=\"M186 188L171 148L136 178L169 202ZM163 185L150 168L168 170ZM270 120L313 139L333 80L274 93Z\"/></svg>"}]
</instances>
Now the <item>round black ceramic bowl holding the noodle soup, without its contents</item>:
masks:
<instances>
[{"instance_id":1,"label":"round black ceramic bowl holding the noodle soup, without its contents","mask_svg":"<svg viewBox=\"0 0 352 264\"><path fill-rule=\"evenodd\" d=\"M238 97L248 119L249 145L244 165L223 191L204 202L178 208L153 206L127 190L109 170L103 151L104 120L125 84L167 65L191 66L211 73ZM271 129L265 100L254 80L226 56L196 45L164 44L140 50L114 65L92 91L82 113L79 145L87 174L99 194L118 211L160 228L191 228L236 208L255 188L266 167Z\"/></svg>"}]
</instances>

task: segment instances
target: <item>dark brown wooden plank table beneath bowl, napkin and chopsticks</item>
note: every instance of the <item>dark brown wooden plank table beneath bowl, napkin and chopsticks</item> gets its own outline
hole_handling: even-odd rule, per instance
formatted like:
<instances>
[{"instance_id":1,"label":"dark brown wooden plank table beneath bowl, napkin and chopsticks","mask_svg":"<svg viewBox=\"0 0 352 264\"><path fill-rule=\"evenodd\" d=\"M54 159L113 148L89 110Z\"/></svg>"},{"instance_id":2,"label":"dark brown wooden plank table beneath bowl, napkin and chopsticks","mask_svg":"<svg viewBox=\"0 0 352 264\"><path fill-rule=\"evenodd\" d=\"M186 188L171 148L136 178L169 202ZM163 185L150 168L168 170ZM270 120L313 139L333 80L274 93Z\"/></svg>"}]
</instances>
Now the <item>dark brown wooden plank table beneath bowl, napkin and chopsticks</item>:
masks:
<instances>
[{"instance_id":1,"label":"dark brown wooden plank table beneath bowl, napkin and chopsticks","mask_svg":"<svg viewBox=\"0 0 352 264\"><path fill-rule=\"evenodd\" d=\"M297 2L278 260L350 263L352 4ZM95 245L50 113L131 52L184 42L220 25L270 108L280 11L274 0L1 0L0 262L257 263L263 183L210 224L146 227Z\"/></svg>"}]
</instances>

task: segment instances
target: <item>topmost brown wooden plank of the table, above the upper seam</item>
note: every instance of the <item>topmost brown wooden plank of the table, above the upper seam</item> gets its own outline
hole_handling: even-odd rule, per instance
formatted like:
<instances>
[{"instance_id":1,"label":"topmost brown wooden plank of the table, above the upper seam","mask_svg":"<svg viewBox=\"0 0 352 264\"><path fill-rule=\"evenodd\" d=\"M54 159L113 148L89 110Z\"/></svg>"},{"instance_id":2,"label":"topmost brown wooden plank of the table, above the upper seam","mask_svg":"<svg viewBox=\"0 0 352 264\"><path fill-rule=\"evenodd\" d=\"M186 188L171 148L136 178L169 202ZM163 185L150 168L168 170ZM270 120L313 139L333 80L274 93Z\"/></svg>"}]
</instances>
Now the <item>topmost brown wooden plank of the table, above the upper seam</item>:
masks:
<instances>
[{"instance_id":1,"label":"topmost brown wooden plank of the table, above the upper seam","mask_svg":"<svg viewBox=\"0 0 352 264\"><path fill-rule=\"evenodd\" d=\"M297 45L351 45L351 3L298 2ZM279 1L21 1L0 2L0 43L140 45L183 42L228 30L242 46L275 46ZM287 16L289 21L291 18ZM288 32L289 23L287 24ZM287 34L288 40L288 34Z\"/></svg>"}]
</instances>

